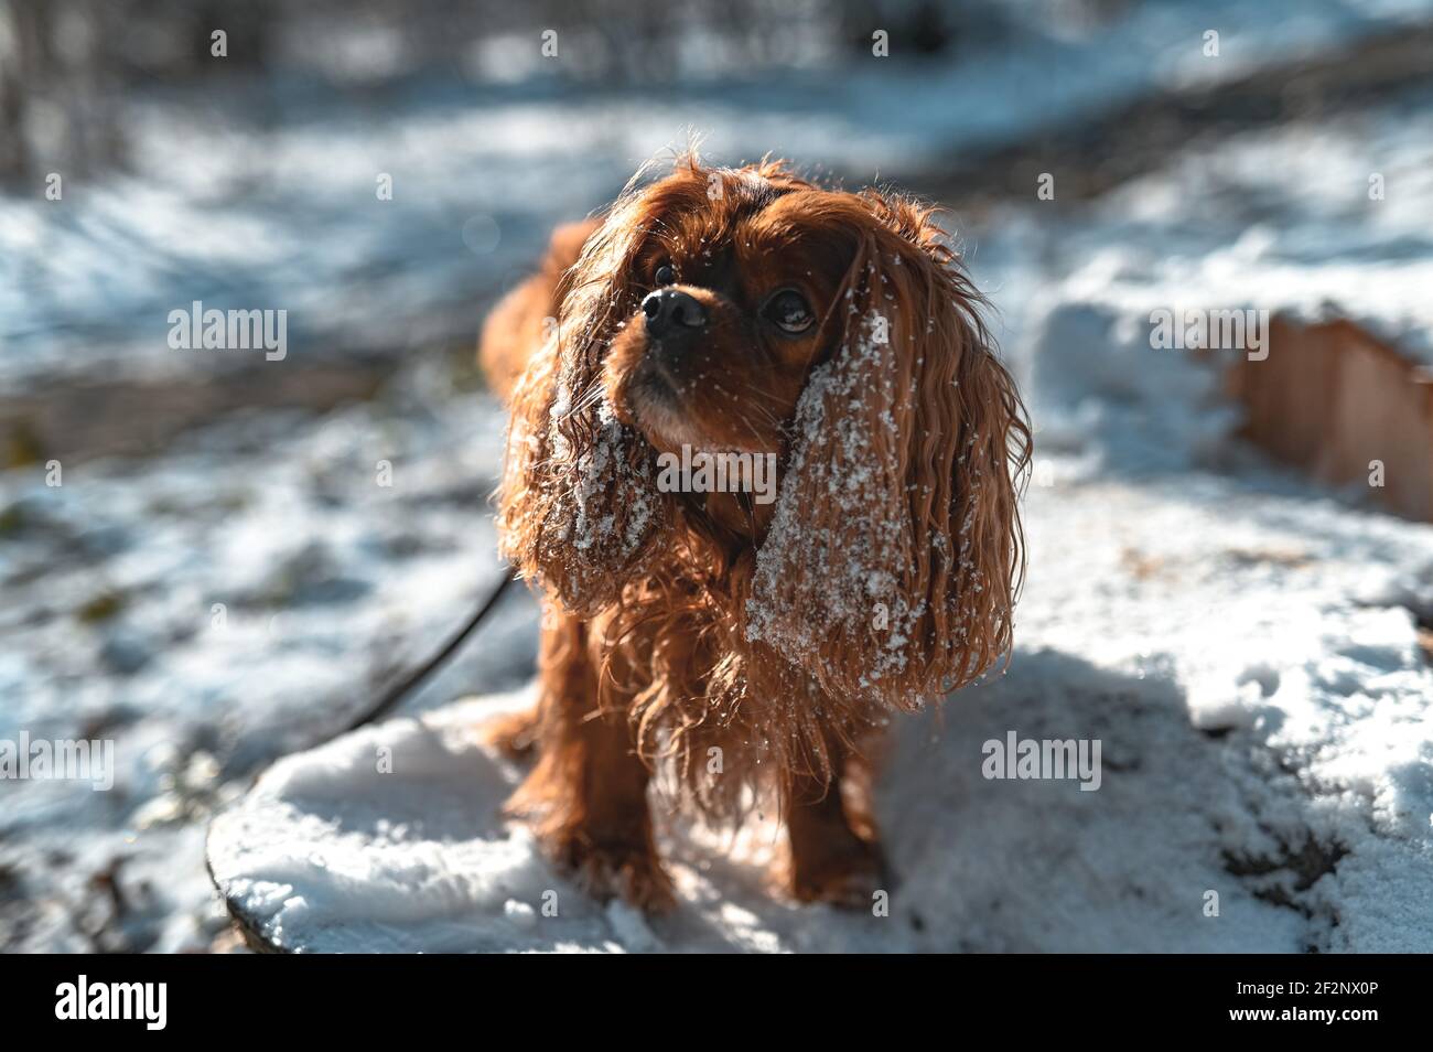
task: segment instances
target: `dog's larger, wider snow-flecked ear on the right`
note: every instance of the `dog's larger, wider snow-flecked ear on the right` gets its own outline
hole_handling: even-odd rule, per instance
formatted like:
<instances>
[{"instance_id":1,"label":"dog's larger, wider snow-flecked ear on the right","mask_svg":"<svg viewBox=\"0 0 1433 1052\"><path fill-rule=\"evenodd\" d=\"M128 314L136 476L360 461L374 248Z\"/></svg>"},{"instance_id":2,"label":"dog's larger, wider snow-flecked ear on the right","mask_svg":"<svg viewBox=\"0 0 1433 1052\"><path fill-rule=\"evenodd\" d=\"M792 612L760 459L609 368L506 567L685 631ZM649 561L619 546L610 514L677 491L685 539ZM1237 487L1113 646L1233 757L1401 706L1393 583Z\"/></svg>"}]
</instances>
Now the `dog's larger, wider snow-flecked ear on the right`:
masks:
<instances>
[{"instance_id":1,"label":"dog's larger, wider snow-flecked ear on the right","mask_svg":"<svg viewBox=\"0 0 1433 1052\"><path fill-rule=\"evenodd\" d=\"M1030 433L930 212L848 201L834 351L797 406L745 636L838 698L911 708L1009 651Z\"/></svg>"}]
</instances>

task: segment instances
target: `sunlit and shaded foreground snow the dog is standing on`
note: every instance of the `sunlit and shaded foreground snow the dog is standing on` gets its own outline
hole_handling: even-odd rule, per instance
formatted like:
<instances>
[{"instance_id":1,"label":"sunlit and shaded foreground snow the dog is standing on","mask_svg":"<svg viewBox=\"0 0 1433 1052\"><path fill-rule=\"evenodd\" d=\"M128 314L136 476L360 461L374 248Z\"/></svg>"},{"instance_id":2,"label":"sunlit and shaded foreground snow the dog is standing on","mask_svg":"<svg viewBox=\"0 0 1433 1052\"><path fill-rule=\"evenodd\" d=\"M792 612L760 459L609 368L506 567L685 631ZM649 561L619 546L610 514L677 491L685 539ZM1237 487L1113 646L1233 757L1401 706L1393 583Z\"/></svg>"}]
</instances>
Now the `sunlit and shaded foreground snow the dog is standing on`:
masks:
<instances>
[{"instance_id":1,"label":"sunlit and shaded foreground snow the dog is standing on","mask_svg":"<svg viewBox=\"0 0 1433 1052\"><path fill-rule=\"evenodd\" d=\"M1056 474L1027 509L1009 672L896 724L888 916L784 900L770 821L668 823L671 917L590 903L497 814L519 773L474 728L522 694L281 761L216 823L215 874L315 952L1433 952L1433 669L1404 605L1433 605L1433 530L1201 474ZM986 780L1012 731L1099 740L1099 788Z\"/></svg>"}]
</instances>

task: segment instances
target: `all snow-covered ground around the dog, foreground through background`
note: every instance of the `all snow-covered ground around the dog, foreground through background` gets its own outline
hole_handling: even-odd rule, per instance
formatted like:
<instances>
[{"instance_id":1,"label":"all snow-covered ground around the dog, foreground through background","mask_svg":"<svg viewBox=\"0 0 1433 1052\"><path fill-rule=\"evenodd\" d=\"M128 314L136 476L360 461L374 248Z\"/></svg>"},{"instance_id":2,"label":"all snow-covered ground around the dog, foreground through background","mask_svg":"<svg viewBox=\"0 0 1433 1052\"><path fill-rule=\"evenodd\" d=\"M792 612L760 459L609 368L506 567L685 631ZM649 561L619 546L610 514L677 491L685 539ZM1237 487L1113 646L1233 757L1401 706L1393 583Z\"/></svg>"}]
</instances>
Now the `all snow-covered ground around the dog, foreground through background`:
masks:
<instances>
[{"instance_id":1,"label":"all snow-covered ground around the dog, foreground through background","mask_svg":"<svg viewBox=\"0 0 1433 1052\"><path fill-rule=\"evenodd\" d=\"M148 460L66 464L57 487L42 467L0 473L0 741L112 740L118 768L109 793L0 781L0 949L202 949L226 927L209 820L344 725L499 573L502 414L454 390L427 337L454 317L476 331L550 224L686 125L728 159L917 172L1413 9L1135 4L1093 46L1052 37L934 82L801 72L775 96L790 109L759 113L770 85L398 102L244 135L160 106L140 113L133 176L69 182L63 209L0 199L7 390L206 367L165 345L168 311L195 297L289 308L289 363L350 345L334 333L414 354L380 398L322 417L231 416ZM1207 20L1240 62L1202 59ZM1002 105L947 102L980 93ZM1088 208L1032 199L962 231L1039 427L1029 585L1010 672L897 727L888 919L774 896L761 864L780 843L759 823L734 846L669 828L684 906L652 926L549 873L494 817L516 773L471 744L502 702L444 708L526 682L520 593L410 718L265 777L226 820L271 834L224 856L251 881L229 891L311 949L1433 949L1433 672L1414 626L1433 621L1433 527L1271 472L1230 441L1211 355L1148 344L1154 308L1252 307L1351 315L1427 353L1430 112L1410 96L1264 129ZM1102 788L986 781L980 744L1012 730L1101 738ZM373 773L380 742L391 775Z\"/></svg>"}]
</instances>

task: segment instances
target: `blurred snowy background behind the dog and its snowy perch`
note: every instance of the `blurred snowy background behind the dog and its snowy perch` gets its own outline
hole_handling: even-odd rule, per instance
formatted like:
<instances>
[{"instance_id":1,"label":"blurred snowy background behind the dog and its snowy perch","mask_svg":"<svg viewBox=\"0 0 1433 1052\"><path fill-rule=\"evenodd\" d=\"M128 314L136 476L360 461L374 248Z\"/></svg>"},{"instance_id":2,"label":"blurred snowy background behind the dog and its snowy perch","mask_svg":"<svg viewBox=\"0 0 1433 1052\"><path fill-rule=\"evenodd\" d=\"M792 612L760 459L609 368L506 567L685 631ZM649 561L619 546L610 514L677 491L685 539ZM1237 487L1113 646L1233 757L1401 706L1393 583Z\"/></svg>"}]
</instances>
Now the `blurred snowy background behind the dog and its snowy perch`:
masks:
<instances>
[{"instance_id":1,"label":"blurred snowy background behind the dog and its snowy perch","mask_svg":"<svg viewBox=\"0 0 1433 1052\"><path fill-rule=\"evenodd\" d=\"M0 738L119 744L110 793L0 783L0 949L224 932L214 808L502 572L484 311L694 136L949 206L1037 489L1212 472L1389 522L1146 320L1343 320L1423 376L1430 93L1416 0L0 0ZM195 301L285 311L284 357L175 350ZM410 709L529 676L503 603Z\"/></svg>"}]
</instances>

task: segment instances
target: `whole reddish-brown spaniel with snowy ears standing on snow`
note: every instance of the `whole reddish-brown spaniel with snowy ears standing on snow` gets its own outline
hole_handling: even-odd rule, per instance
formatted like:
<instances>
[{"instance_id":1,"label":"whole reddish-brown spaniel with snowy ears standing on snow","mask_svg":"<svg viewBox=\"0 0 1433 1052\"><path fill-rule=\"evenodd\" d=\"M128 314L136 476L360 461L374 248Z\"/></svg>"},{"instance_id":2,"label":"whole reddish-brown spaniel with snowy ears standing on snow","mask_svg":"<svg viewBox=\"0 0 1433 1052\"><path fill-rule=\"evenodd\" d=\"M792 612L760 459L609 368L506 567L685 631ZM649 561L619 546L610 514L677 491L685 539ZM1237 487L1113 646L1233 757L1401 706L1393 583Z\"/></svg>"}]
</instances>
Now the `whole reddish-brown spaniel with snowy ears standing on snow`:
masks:
<instances>
[{"instance_id":1,"label":"whole reddish-brown spaniel with snowy ears standing on snow","mask_svg":"<svg viewBox=\"0 0 1433 1052\"><path fill-rule=\"evenodd\" d=\"M775 798L788 891L871 903L888 714L1010 649L1030 431L980 307L934 209L685 155L493 310L499 535L545 616L537 707L489 735L536 751L509 808L592 894L674 903L651 787Z\"/></svg>"}]
</instances>

